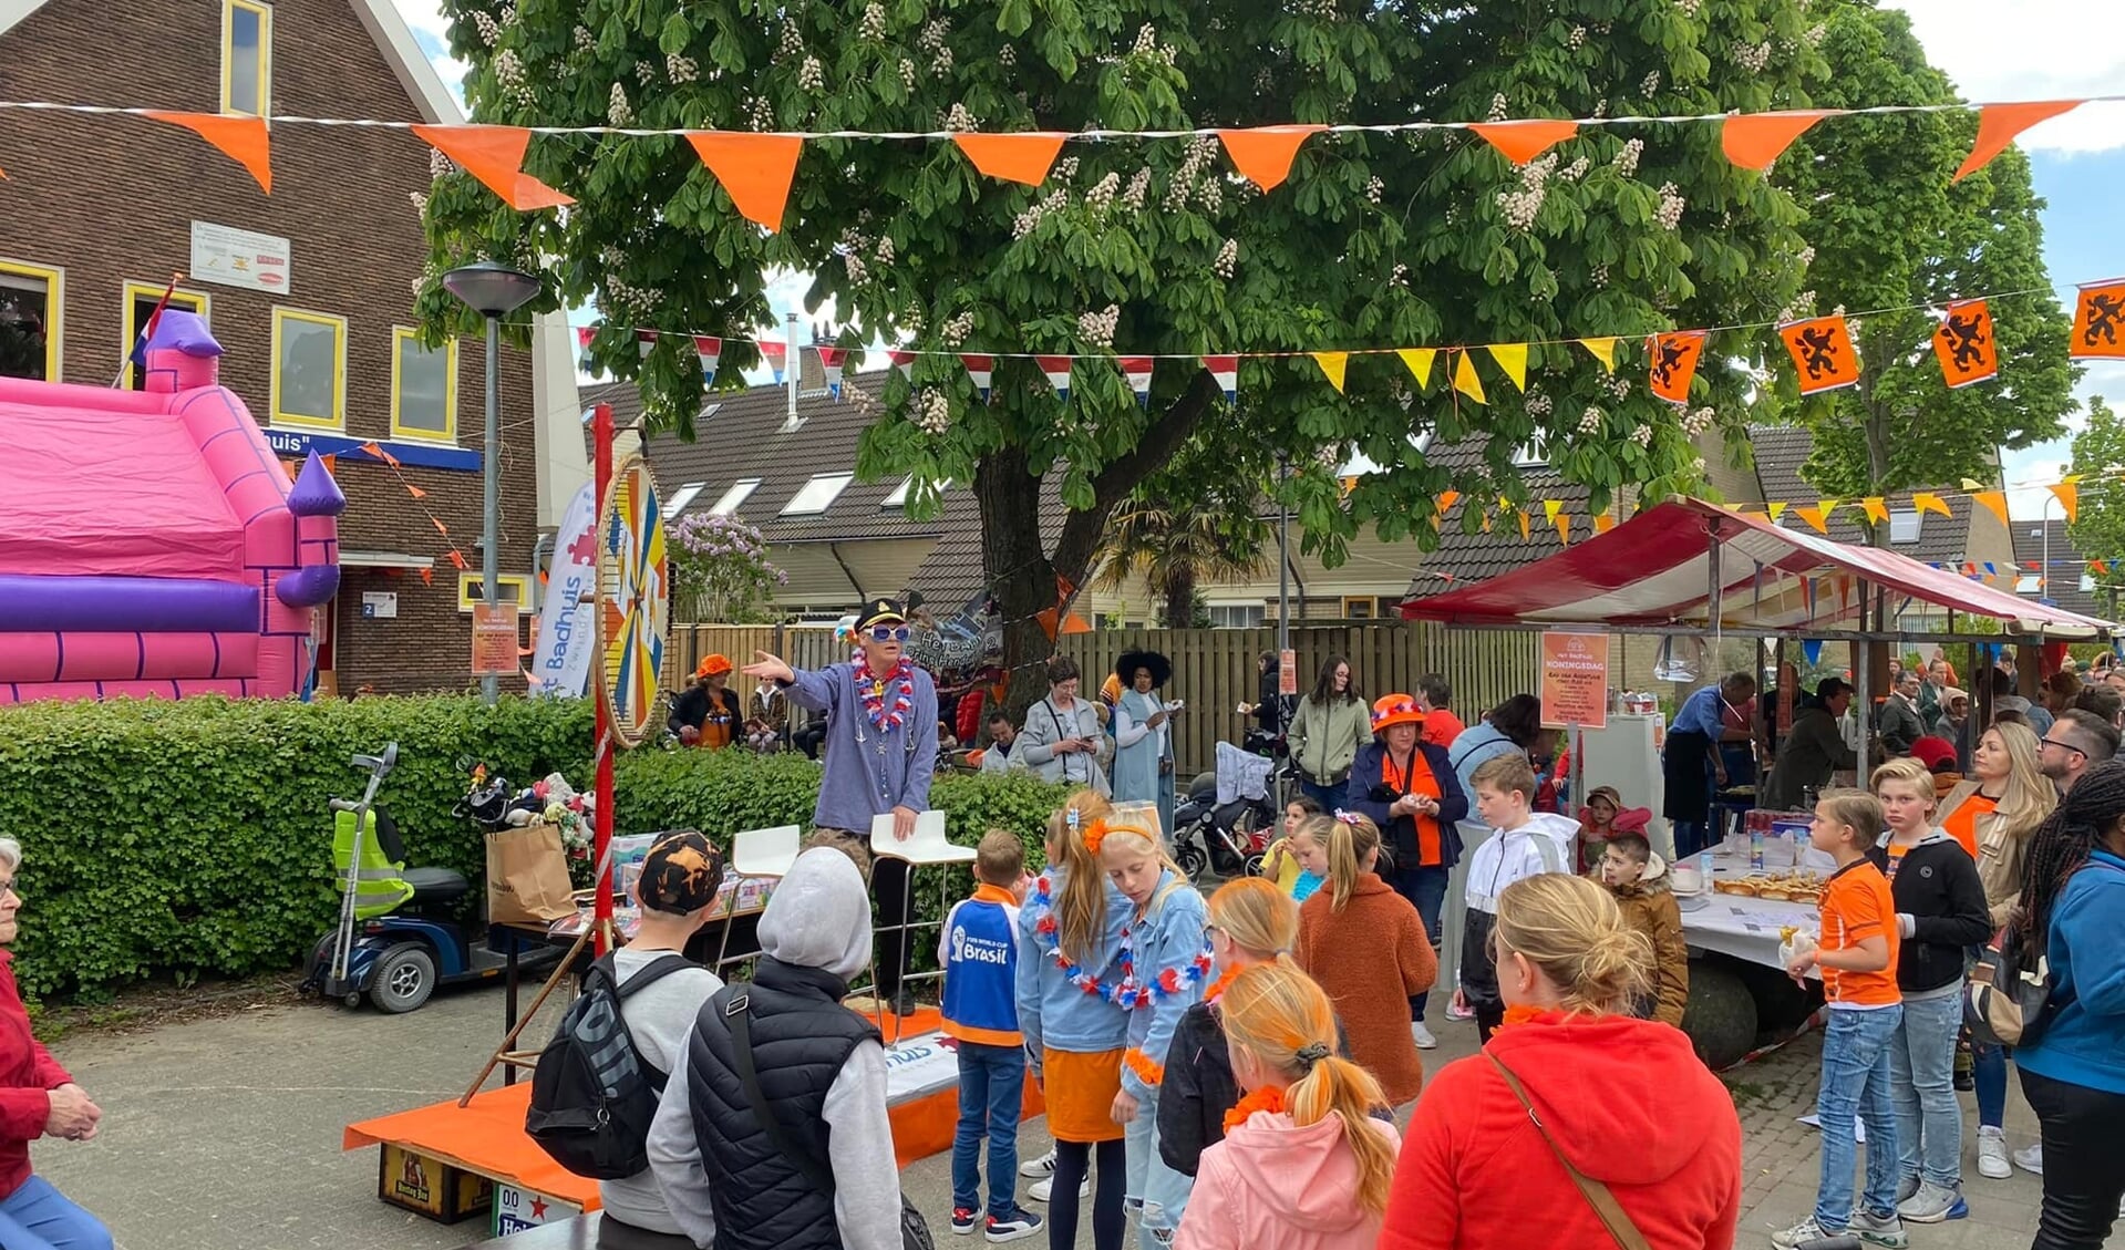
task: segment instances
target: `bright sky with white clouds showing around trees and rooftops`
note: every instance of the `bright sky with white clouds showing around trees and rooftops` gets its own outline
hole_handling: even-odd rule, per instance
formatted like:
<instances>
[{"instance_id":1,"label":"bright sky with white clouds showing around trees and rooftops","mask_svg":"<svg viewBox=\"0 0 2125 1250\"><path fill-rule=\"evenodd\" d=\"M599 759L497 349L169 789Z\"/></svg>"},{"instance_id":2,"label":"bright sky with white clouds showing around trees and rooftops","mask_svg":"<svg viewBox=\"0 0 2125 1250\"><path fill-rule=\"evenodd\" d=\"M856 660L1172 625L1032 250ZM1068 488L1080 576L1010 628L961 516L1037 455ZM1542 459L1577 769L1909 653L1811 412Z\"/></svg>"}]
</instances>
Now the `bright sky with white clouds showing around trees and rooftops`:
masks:
<instances>
[{"instance_id":1,"label":"bright sky with white clouds showing around trees and rooftops","mask_svg":"<svg viewBox=\"0 0 2125 1250\"><path fill-rule=\"evenodd\" d=\"M457 83L465 66L448 55L448 23L434 0L391 0L414 38ZM1881 0L1910 15L1912 30L1936 66L1968 100L2059 100L2125 94L2125 4L2119 0ZM2125 230L2116 204L2125 189L2125 102L2082 104L2027 130L2036 191L2044 198L2044 259L2072 302L2076 283L2125 276ZM776 274L769 306L778 317L801 308L805 274ZM831 310L829 310L831 312ZM586 317L586 315L584 315ZM2095 364L2076 395L2104 395L2125 408L2125 361ZM2072 425L2078 427L2076 412ZM2010 493L2017 517L2036 517L2051 502L2042 483L2057 480L2070 436L2002 455L2006 483L2034 483ZM2051 504L2057 508L2057 504Z\"/></svg>"}]
</instances>

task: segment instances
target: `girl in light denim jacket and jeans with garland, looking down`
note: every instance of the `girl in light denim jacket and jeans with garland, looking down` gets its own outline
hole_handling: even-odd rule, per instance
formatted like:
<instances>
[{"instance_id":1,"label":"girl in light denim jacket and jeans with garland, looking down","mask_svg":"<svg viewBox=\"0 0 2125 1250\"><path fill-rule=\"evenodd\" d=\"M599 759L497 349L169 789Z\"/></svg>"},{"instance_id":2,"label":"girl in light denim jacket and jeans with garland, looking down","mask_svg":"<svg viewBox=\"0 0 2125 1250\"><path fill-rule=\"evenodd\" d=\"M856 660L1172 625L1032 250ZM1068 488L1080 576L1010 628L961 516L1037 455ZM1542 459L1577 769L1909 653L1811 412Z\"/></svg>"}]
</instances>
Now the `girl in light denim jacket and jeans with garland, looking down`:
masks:
<instances>
[{"instance_id":1,"label":"girl in light denim jacket and jeans with garland, looking down","mask_svg":"<svg viewBox=\"0 0 2125 1250\"><path fill-rule=\"evenodd\" d=\"M1128 1050L1111 1114L1128 1142L1128 1197L1141 1203L1139 1246L1160 1250L1173 1244L1173 1227L1188 1205L1188 1178L1158 1156L1158 1088L1173 1033L1209 978L1209 914L1203 895L1167 857L1156 812L1118 808L1094 821L1086 844L1128 899L1116 986L1128 1008Z\"/></svg>"}]
</instances>

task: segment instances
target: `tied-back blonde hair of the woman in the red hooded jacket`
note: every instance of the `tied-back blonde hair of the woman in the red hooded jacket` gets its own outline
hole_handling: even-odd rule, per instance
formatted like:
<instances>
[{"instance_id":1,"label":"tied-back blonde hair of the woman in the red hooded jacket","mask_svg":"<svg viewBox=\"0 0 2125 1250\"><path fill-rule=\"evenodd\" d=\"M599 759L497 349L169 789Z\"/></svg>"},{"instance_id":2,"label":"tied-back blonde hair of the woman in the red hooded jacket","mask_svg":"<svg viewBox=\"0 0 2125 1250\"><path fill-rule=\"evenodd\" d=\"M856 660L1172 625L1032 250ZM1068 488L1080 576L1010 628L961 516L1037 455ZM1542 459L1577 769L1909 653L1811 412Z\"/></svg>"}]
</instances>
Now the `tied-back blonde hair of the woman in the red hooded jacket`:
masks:
<instances>
[{"instance_id":1,"label":"tied-back blonde hair of the woman in the red hooded jacket","mask_svg":"<svg viewBox=\"0 0 2125 1250\"><path fill-rule=\"evenodd\" d=\"M1651 993L1653 944L1630 927L1624 908L1583 876L1545 872L1498 895L1498 963L1522 955L1558 991L1566 1012L1630 1012ZM1502 967L1500 967L1502 974Z\"/></svg>"}]
</instances>

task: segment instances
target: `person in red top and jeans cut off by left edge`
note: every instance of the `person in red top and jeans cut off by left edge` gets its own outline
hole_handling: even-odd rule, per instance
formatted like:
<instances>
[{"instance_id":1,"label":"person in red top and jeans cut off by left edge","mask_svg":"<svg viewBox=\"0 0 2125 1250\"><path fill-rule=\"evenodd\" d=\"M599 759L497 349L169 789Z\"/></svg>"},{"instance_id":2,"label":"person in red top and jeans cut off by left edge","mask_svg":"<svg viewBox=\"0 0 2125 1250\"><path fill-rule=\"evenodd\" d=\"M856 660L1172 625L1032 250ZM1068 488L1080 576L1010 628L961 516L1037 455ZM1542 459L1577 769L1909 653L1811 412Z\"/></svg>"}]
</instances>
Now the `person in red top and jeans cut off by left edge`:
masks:
<instances>
[{"instance_id":1,"label":"person in red top and jeans cut off by left edge","mask_svg":"<svg viewBox=\"0 0 2125 1250\"><path fill-rule=\"evenodd\" d=\"M0 838L0 948L15 942L15 869L21 846ZM30 1171L30 1142L53 1135L87 1142L102 1110L30 1035L15 991L13 955L0 950L0 1246L6 1250L110 1250L110 1233Z\"/></svg>"}]
</instances>

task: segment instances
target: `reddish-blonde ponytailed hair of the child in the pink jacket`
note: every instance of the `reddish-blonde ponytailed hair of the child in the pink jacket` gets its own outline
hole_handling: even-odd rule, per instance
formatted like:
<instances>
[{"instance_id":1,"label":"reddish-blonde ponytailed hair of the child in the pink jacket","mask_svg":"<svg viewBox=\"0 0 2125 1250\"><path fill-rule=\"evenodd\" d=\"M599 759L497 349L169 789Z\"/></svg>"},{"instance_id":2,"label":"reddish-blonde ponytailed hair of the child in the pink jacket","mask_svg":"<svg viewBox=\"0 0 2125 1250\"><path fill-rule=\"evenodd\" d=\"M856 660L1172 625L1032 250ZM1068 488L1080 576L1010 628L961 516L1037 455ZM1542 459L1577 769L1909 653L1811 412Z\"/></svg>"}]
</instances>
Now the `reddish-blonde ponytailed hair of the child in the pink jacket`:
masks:
<instances>
[{"instance_id":1,"label":"reddish-blonde ponytailed hair of the child in the pink jacket","mask_svg":"<svg viewBox=\"0 0 2125 1250\"><path fill-rule=\"evenodd\" d=\"M1383 1216L1394 1146L1373 1127L1373 1108L1388 1095L1371 1071L1337 1054L1334 1008L1322 986L1288 963L1256 963L1232 978L1218 1014L1226 1042L1292 1082L1284 1110L1294 1125L1343 1120L1343 1142L1358 1156L1358 1205Z\"/></svg>"}]
</instances>

